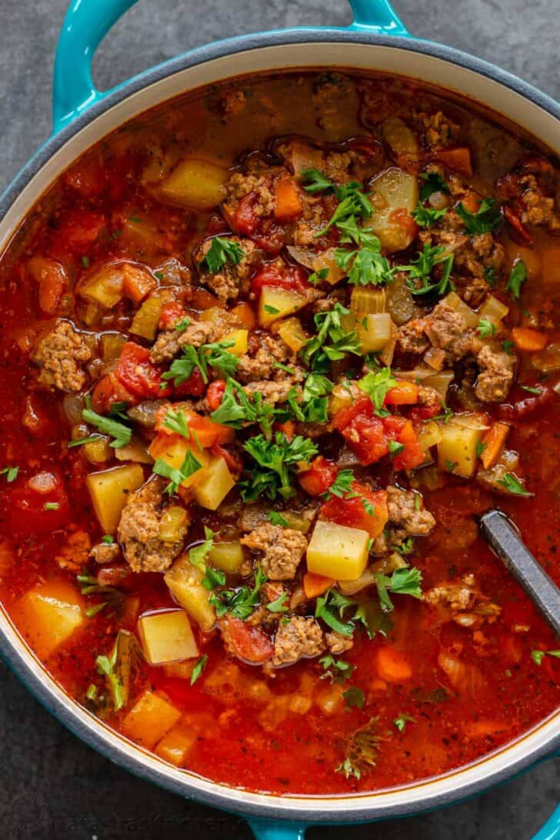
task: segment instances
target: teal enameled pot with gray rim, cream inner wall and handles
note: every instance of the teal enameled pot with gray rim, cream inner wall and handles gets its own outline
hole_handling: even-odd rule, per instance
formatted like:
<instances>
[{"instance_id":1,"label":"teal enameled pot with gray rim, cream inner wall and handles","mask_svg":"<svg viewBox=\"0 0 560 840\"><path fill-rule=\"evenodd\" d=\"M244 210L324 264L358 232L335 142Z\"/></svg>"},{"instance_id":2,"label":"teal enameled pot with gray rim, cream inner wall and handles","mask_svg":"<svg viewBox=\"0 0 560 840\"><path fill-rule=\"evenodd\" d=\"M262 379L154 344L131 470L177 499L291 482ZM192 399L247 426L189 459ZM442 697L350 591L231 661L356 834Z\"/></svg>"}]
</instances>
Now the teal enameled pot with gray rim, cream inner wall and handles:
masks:
<instances>
[{"instance_id":1,"label":"teal enameled pot with gray rim, cream inner wall and handles","mask_svg":"<svg viewBox=\"0 0 560 840\"><path fill-rule=\"evenodd\" d=\"M92 56L133 3L72 0L55 60L53 134L0 199L0 249L60 171L103 135L170 97L243 73L330 65L410 76L483 103L560 154L557 102L472 55L412 38L388 0L350 0L354 19L346 28L285 29L229 38L166 61L112 91L99 92L92 82ZM2 612L0 650L34 696L79 738L186 799L246 816L259 840L296 840L311 824L369 822L429 811L488 790L560 750L558 711L474 764L399 789L338 796L250 793L175 769L111 731L50 679ZM560 840L560 808L537 838Z\"/></svg>"}]
</instances>

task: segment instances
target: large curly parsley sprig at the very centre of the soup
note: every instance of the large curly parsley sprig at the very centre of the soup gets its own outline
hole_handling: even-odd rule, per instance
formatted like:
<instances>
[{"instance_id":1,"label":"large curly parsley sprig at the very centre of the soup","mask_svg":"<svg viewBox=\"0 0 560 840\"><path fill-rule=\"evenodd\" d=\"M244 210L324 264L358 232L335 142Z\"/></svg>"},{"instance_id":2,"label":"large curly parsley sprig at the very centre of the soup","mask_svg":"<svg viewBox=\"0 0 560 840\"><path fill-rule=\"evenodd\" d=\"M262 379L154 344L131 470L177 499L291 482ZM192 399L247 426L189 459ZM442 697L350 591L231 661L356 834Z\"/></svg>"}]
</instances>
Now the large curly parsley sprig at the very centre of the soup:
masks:
<instances>
[{"instance_id":1,"label":"large curly parsley sprig at the very centre of the soup","mask_svg":"<svg viewBox=\"0 0 560 840\"><path fill-rule=\"evenodd\" d=\"M255 435L243 444L243 449L258 465L252 466L247 478L240 482L243 501L254 501L263 495L273 501L279 494L285 499L294 496L291 470L309 463L318 452L317 445L309 438L296 435L288 440L280 432L271 440L262 434Z\"/></svg>"}]
</instances>

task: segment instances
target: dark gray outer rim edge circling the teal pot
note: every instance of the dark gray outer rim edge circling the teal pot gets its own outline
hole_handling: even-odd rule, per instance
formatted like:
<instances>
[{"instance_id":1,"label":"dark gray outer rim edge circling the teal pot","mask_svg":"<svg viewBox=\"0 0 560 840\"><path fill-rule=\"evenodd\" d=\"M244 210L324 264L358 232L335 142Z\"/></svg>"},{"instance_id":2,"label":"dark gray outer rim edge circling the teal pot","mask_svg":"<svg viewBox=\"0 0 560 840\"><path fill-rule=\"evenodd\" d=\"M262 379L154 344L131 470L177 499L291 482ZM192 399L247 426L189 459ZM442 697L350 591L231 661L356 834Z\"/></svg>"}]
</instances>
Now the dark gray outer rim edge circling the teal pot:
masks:
<instances>
[{"instance_id":1,"label":"dark gray outer rim edge circling the teal pot","mask_svg":"<svg viewBox=\"0 0 560 840\"><path fill-rule=\"evenodd\" d=\"M53 135L48 139L44 145L35 153L35 155L24 165L23 169L13 179L10 185L3 192L0 197L0 219L8 212L9 207L15 202L18 195L23 192L24 187L28 185L29 181L39 172L39 170L46 164L48 160L58 151L71 137L81 131L88 123L92 123L100 114L113 108L119 102L129 97L131 94L139 90L149 87L156 81L163 80L175 73L186 70L207 61L222 58L227 55L234 55L248 50L257 50L268 46L282 46L282 45L296 45L305 43L348 43L348 44L366 44L390 46L397 50L405 50L408 52L416 52L423 55L432 56L442 60L447 60L455 65L461 66L467 70L474 71L480 76L485 76L492 81L496 81L501 85L510 88L510 90L517 92L521 97L526 98L530 102L540 106L544 111L550 113L553 117L560 120L560 104L555 102L552 97L542 93L536 87L531 86L526 81L522 81L517 76L501 70L490 64L487 61L479 59L474 55L469 55L462 50L457 50L453 47L448 47L441 44L435 44L426 40L400 37L395 35L374 34L364 29L336 29L336 28L299 28L299 29L285 29L269 33L257 33L238 36L236 38L219 41L214 44L205 45L191 50L185 55L180 55L176 58L165 61L163 64L156 66L148 71L134 76L129 81L123 82L113 92L109 92L100 102L94 103L90 108L81 113L78 117L72 120L71 123L61 129L58 134ZM196 800L202 804L213 806L238 816L254 816L267 819L279 819L282 821L293 822L294 824L320 824L320 823L357 823L369 822L372 820L380 820L389 817L411 816L413 814L420 814L426 811L432 811L434 808L451 805L454 802L462 801L470 796L477 795L489 787L503 784L510 780L516 774L531 768L537 762L552 757L552 755L560 750L560 726L558 727L557 735L551 738L547 743L540 748L532 748L530 752L526 753L521 759L517 760L515 764L511 764L505 769L495 769L488 774L481 774L480 778L470 782L468 785L463 785L460 792L456 795L453 791L442 793L439 795L427 795L420 798L419 801L402 803L400 806L380 806L375 804L375 794L354 796L352 799L345 795L340 797L341 800L348 798L348 811L333 811L326 806L322 811L310 811L306 808L306 800L321 801L321 796L301 797L301 806L299 801L297 806L291 806L287 810L281 807L282 797L275 797L278 801L278 806L270 804L270 795L263 795L267 797L267 801L262 804L254 802L239 802L232 803L231 795L235 790L224 785L212 783L213 790L200 790L196 784L196 776L186 774L185 779L178 781L172 780L165 776L160 770L150 768L142 764L138 759L130 755L124 754L123 750L118 748L118 737L111 736L108 733L103 735L102 732L107 732L102 726L97 725L95 728L86 727L84 722L80 720L77 715L77 704L72 701L71 707L65 706L59 697L56 696L56 691L51 685L51 680L40 680L34 674L34 671L29 665L29 658L33 654L24 654L19 650L8 633L0 630L0 654L8 663L9 667L18 679L25 685L25 687L34 695L34 697L50 711L61 723L68 727L78 738L86 742L89 746L96 749L97 752L127 769L129 772L139 776L139 778L151 781L165 790L181 795L183 798ZM552 716L554 717L554 716ZM542 724L541 724L542 725ZM536 727L538 729L538 727ZM531 730L534 732L535 730ZM531 738L531 732L526 733L521 738ZM507 750L508 745L496 750L495 753L502 753ZM489 756L475 762L475 765L484 764L492 758ZM471 766L471 765L468 765ZM464 768L462 768L464 769ZM449 775L453 778L456 771ZM424 780L421 784L429 784L430 780ZM416 785L411 785L414 787ZM421 785L420 785L421 786ZM222 792L223 791L223 792ZM241 791L240 791L241 793ZM258 795L257 795L258 796ZM338 798L338 797L337 797ZM299 798L298 798L299 799Z\"/></svg>"}]
</instances>

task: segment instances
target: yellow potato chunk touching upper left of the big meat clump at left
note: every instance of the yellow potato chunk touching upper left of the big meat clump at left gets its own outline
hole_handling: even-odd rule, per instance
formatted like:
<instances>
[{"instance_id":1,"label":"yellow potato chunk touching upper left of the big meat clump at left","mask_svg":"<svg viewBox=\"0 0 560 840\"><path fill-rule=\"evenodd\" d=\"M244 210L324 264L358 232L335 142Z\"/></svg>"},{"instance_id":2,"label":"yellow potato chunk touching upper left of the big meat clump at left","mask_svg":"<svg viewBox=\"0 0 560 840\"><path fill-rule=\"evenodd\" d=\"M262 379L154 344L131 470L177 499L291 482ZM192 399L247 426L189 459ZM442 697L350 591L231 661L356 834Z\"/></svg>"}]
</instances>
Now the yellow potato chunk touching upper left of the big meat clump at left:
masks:
<instances>
[{"instance_id":1,"label":"yellow potato chunk touching upper left of the big meat clump at left","mask_svg":"<svg viewBox=\"0 0 560 840\"><path fill-rule=\"evenodd\" d=\"M139 464L125 464L87 476L87 489L105 533L116 532L128 494L143 484L144 470Z\"/></svg>"}]
</instances>

